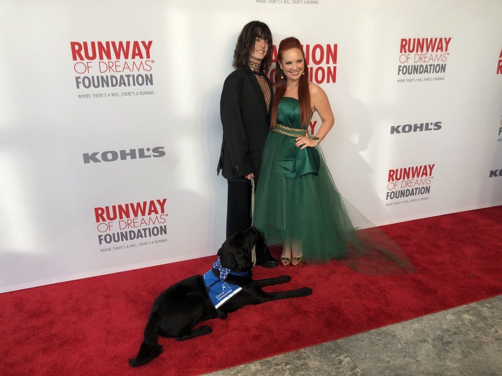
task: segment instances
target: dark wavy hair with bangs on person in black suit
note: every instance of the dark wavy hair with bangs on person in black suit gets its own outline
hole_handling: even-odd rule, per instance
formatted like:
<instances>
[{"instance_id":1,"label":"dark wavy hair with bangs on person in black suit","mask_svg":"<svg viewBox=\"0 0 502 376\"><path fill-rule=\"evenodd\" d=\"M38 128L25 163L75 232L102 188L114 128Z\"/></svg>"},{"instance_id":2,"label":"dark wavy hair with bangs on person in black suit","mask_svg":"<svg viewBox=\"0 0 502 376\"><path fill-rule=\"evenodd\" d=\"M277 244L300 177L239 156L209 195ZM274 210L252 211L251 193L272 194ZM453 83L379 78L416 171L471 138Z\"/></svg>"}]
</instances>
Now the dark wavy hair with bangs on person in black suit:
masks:
<instances>
[{"instance_id":1,"label":"dark wavy hair with bangs on person in black suit","mask_svg":"<svg viewBox=\"0 0 502 376\"><path fill-rule=\"evenodd\" d=\"M272 33L269 27L260 21L251 21L242 28L233 53L232 65L234 68L247 66L249 54L255 49L255 40L257 37L269 41L269 49L262 60L262 70L270 68L272 64Z\"/></svg>"}]
</instances>

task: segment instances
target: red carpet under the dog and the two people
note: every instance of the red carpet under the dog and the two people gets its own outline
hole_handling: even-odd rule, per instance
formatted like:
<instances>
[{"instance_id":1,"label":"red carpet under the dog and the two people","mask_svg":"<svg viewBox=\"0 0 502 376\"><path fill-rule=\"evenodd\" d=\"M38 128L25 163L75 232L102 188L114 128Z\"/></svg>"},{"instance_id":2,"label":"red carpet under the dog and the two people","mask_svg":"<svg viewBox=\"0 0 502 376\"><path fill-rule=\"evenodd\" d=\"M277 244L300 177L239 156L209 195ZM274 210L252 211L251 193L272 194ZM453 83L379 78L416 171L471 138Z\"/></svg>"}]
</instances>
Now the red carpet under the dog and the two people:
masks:
<instances>
[{"instance_id":1,"label":"red carpet under the dog and the two people","mask_svg":"<svg viewBox=\"0 0 502 376\"><path fill-rule=\"evenodd\" d=\"M164 352L134 369L127 360L139 349L154 298L204 273L214 257L0 294L0 374L195 375L498 295L501 219L502 207L494 207L384 227L415 264L410 275L368 277L336 262L257 267L255 278L292 276L274 289L314 292L210 320L206 336L160 338Z\"/></svg>"}]
</instances>

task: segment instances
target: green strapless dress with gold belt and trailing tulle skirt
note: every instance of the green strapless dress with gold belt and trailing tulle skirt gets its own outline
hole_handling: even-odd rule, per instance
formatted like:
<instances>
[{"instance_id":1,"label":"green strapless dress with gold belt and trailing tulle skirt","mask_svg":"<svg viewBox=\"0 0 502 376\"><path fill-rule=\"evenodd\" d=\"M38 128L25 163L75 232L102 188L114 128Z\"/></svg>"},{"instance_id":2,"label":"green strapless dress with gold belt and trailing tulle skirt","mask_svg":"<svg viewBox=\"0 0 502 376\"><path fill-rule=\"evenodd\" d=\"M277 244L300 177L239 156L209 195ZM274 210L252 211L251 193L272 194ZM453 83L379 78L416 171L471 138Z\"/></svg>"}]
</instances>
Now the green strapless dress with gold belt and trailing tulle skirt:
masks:
<instances>
[{"instance_id":1,"label":"green strapless dress with gold belt and trailing tulle skirt","mask_svg":"<svg viewBox=\"0 0 502 376\"><path fill-rule=\"evenodd\" d=\"M369 221L354 229L347 206L363 217L340 196L319 146L295 146L307 131L297 99L281 100L277 124L265 142L253 218L267 245L300 242L306 261L338 259L364 274L413 270L396 242Z\"/></svg>"}]
</instances>

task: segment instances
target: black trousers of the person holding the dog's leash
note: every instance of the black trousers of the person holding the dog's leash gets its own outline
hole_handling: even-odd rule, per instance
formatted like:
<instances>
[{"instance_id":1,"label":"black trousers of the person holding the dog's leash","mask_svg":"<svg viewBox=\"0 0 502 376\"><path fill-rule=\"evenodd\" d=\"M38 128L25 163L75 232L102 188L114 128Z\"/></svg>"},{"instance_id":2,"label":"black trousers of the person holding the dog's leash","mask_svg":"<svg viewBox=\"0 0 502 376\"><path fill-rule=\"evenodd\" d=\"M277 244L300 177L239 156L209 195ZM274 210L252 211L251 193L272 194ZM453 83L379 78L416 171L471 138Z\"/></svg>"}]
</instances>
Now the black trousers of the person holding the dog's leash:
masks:
<instances>
[{"instance_id":1,"label":"black trousers of the person holding the dog's leash","mask_svg":"<svg viewBox=\"0 0 502 376\"><path fill-rule=\"evenodd\" d=\"M226 209L226 237L237 231L244 231L251 226L251 182L228 181ZM270 253L265 240L259 234L256 243L257 263L265 261Z\"/></svg>"}]
</instances>

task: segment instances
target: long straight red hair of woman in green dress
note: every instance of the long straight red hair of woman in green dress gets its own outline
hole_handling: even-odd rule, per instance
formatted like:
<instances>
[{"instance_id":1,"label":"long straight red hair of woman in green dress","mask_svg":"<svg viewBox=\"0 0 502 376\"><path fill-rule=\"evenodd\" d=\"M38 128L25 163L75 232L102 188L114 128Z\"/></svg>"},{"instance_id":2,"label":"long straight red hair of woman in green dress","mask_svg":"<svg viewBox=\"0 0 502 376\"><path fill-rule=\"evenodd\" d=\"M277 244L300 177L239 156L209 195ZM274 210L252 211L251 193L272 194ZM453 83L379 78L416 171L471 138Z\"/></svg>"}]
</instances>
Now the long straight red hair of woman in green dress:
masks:
<instances>
[{"instance_id":1,"label":"long straight red hair of woman in green dress","mask_svg":"<svg viewBox=\"0 0 502 376\"><path fill-rule=\"evenodd\" d=\"M301 125L308 125L309 120L312 117L309 91L309 67L307 66L307 61L305 60L305 52L303 52L302 45L298 39L295 37L289 37L281 41L279 49L277 50L277 66L274 73L276 92L274 94L274 103L272 104L272 109L270 111L270 129L274 129L276 127L279 102L281 102L281 99L286 93L286 78L281 78L282 71L279 67L279 62L282 63L284 52L291 50L292 48L297 48L302 52L304 62L304 74L300 77L300 81L298 83L298 103L300 105Z\"/></svg>"}]
</instances>

